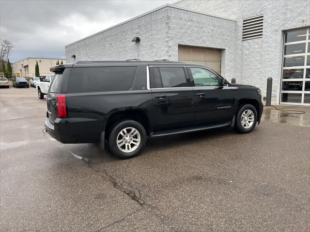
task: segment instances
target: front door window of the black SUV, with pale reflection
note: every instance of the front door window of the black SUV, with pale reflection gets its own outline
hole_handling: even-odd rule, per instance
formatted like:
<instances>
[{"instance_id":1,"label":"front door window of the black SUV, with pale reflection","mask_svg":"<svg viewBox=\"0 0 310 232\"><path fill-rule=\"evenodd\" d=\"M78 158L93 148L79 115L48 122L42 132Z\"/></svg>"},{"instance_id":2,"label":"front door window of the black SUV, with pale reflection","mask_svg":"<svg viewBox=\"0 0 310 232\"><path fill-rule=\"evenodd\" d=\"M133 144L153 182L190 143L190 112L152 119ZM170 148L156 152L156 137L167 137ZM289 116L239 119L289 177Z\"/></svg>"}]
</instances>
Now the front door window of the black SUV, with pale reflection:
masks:
<instances>
[{"instance_id":1,"label":"front door window of the black SUV, with pale reflection","mask_svg":"<svg viewBox=\"0 0 310 232\"><path fill-rule=\"evenodd\" d=\"M190 68L196 87L200 86L218 86L217 75L202 68Z\"/></svg>"}]
</instances>

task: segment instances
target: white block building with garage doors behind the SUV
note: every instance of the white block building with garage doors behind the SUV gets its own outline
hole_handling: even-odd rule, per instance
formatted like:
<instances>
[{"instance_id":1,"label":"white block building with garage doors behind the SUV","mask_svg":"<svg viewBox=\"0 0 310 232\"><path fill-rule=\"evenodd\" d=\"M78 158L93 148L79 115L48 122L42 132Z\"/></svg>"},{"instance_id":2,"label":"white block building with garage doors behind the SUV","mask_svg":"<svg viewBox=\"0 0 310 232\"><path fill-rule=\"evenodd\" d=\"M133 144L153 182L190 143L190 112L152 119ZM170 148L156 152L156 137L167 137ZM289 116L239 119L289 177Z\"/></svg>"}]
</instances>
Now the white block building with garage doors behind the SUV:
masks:
<instances>
[{"instance_id":1,"label":"white block building with garage doors behind the SUV","mask_svg":"<svg viewBox=\"0 0 310 232\"><path fill-rule=\"evenodd\" d=\"M263 96L272 77L272 103L310 105L309 9L309 0L180 0L67 45L66 60L202 64Z\"/></svg>"}]
</instances>

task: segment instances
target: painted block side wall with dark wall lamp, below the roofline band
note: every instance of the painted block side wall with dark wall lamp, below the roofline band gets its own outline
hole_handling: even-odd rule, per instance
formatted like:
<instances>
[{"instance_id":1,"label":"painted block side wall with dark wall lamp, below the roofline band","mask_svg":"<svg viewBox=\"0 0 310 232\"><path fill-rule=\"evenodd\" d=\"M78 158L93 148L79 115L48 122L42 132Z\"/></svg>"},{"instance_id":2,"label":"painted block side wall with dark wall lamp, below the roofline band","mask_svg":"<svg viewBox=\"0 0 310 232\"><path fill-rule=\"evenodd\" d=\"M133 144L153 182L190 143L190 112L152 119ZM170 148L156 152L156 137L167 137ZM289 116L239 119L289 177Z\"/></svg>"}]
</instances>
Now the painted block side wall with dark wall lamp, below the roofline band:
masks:
<instances>
[{"instance_id":1,"label":"painted block side wall with dark wall lamp, below the roofline band","mask_svg":"<svg viewBox=\"0 0 310 232\"><path fill-rule=\"evenodd\" d=\"M167 16L145 24L132 25L117 33L91 37L65 47L66 60L125 60L140 58L153 60L167 58ZM139 43L131 42L134 37L140 37Z\"/></svg>"}]
</instances>

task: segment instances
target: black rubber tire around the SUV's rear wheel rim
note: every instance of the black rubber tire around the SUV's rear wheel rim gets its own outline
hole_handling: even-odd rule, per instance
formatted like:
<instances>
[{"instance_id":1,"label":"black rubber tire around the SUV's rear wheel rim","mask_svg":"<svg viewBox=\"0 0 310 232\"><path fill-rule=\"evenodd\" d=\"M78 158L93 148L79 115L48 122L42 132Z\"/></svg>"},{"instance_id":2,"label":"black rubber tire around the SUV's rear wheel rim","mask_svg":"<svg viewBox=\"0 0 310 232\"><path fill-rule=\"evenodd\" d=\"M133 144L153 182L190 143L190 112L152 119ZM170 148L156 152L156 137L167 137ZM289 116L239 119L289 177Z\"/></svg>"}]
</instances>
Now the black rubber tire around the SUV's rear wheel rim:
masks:
<instances>
[{"instance_id":1,"label":"black rubber tire around the SUV's rear wheel rim","mask_svg":"<svg viewBox=\"0 0 310 232\"><path fill-rule=\"evenodd\" d=\"M117 145L117 139L119 139L118 138L119 133L126 128L134 128L137 131L139 131L139 134L140 134L140 144L132 152L124 152ZM122 136L122 135L120 135L120 136ZM145 146L146 136L147 136L146 131L145 131L144 127L139 122L134 121L134 120L125 120L125 121L118 123L116 126L113 127L111 133L109 134L109 147L110 147L112 153L121 159L133 158L133 157L138 156L139 152ZM130 142L128 142L128 144L127 144L128 146L129 146L129 143ZM125 144L124 144L124 146L126 147ZM132 146L132 144L130 146ZM134 147L135 147L135 145L134 145Z\"/></svg>"}]
</instances>

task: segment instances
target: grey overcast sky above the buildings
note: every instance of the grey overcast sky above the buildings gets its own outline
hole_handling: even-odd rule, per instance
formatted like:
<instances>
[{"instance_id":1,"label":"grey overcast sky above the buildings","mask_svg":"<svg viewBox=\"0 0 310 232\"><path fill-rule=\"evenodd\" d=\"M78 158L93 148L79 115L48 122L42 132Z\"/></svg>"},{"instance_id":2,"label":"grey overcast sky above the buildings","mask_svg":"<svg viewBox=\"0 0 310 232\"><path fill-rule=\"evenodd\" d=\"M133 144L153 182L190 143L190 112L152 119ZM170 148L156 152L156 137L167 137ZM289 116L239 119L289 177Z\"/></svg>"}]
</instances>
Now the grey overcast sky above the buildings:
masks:
<instances>
[{"instance_id":1,"label":"grey overcast sky above the buildings","mask_svg":"<svg viewBox=\"0 0 310 232\"><path fill-rule=\"evenodd\" d=\"M176 0L0 0L0 39L26 57L65 58L64 46Z\"/></svg>"}]
</instances>

